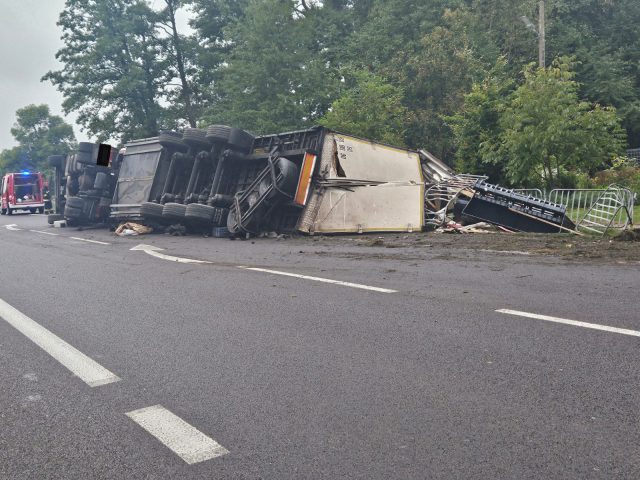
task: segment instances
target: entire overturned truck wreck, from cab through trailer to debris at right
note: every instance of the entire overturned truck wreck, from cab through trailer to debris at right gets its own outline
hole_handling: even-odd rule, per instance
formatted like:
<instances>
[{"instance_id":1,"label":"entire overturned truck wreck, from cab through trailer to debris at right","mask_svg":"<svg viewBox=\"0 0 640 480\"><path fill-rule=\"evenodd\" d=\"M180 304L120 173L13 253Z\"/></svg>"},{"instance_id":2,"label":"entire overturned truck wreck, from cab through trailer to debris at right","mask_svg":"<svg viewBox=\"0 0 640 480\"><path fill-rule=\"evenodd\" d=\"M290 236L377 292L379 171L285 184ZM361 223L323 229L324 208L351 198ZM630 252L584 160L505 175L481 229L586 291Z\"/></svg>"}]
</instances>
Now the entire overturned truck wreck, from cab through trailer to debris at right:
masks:
<instances>
[{"instance_id":1,"label":"entire overturned truck wreck, from cab through trailer to debris at right","mask_svg":"<svg viewBox=\"0 0 640 480\"><path fill-rule=\"evenodd\" d=\"M135 222L214 237L425 228L577 233L564 205L458 174L426 150L324 127L262 136L226 125L161 132L127 143L108 163L99 161L102 148L85 142L72 155L50 157L57 180L50 223L64 217L115 229ZM619 197L607 196L589 220Z\"/></svg>"}]
</instances>

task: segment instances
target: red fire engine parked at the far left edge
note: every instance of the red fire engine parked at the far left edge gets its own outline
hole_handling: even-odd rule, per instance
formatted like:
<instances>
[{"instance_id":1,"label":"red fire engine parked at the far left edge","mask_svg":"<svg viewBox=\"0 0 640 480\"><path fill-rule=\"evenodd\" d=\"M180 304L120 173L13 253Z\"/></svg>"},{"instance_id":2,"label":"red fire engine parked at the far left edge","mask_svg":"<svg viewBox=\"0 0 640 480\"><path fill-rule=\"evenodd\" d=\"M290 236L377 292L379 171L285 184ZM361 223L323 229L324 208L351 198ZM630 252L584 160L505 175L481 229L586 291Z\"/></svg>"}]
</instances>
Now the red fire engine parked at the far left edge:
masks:
<instances>
[{"instance_id":1,"label":"red fire engine parked at the far left edge","mask_svg":"<svg viewBox=\"0 0 640 480\"><path fill-rule=\"evenodd\" d=\"M44 181L40 172L7 173L0 185L0 213L16 210L44 213Z\"/></svg>"}]
</instances>

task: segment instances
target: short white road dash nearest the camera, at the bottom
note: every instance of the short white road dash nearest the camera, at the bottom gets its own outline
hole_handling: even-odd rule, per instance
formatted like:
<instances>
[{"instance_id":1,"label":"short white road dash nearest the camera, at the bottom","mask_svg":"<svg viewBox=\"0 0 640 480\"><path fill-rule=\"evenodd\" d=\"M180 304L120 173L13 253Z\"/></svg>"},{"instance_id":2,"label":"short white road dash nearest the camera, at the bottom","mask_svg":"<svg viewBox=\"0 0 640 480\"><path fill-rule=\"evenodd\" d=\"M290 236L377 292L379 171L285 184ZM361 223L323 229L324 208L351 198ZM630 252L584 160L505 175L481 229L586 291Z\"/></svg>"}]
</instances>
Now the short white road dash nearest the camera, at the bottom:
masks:
<instances>
[{"instance_id":1,"label":"short white road dash nearest the camera, at the bottom","mask_svg":"<svg viewBox=\"0 0 640 480\"><path fill-rule=\"evenodd\" d=\"M229 451L162 405L141 408L127 416L160 440L188 464L203 462Z\"/></svg>"}]
</instances>

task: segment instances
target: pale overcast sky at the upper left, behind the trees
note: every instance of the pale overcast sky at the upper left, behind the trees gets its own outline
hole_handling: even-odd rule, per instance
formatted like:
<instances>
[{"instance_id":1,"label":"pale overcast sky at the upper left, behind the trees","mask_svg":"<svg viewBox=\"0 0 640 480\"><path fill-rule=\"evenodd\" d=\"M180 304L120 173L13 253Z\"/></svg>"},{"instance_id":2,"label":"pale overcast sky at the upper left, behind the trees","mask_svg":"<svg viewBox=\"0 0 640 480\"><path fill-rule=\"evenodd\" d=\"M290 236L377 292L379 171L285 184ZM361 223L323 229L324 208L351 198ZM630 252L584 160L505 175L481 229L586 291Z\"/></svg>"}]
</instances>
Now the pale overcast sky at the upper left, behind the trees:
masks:
<instances>
[{"instance_id":1,"label":"pale overcast sky at the upper left, behind the trees","mask_svg":"<svg viewBox=\"0 0 640 480\"><path fill-rule=\"evenodd\" d=\"M107 0L108 1L108 0ZM156 7L159 0L149 0ZM91 141L76 125L73 114L62 112L62 94L40 78L62 65L55 54L62 47L62 30L56 25L64 0L0 0L0 150L16 145L11 135L15 112L30 104L49 105L51 113L73 125L76 139ZM188 30L187 16L178 18Z\"/></svg>"}]
</instances>

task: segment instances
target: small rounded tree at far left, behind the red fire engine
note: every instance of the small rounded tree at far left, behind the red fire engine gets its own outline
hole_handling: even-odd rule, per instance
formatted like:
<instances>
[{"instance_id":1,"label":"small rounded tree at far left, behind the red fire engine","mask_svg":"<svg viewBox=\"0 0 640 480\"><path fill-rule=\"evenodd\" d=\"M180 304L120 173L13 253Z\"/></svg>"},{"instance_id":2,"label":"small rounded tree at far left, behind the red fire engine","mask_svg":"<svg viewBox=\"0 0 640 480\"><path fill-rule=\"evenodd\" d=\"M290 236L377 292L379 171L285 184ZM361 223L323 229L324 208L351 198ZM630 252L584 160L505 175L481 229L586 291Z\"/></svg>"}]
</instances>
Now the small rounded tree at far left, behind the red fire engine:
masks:
<instances>
[{"instance_id":1,"label":"small rounded tree at far left, behind the red fire engine","mask_svg":"<svg viewBox=\"0 0 640 480\"><path fill-rule=\"evenodd\" d=\"M47 105L27 105L16 111L11 134L18 146L0 153L0 170L46 170L49 155L64 155L74 148L73 128Z\"/></svg>"}]
</instances>

